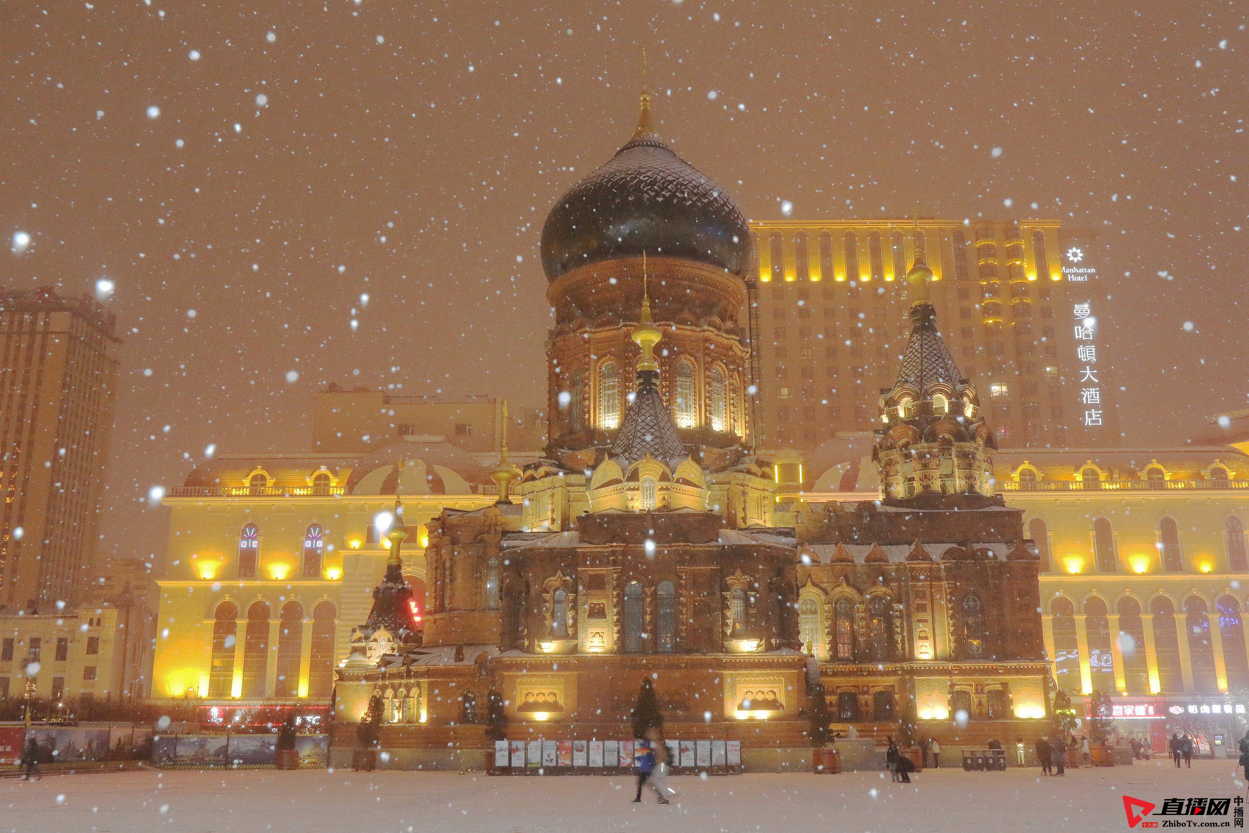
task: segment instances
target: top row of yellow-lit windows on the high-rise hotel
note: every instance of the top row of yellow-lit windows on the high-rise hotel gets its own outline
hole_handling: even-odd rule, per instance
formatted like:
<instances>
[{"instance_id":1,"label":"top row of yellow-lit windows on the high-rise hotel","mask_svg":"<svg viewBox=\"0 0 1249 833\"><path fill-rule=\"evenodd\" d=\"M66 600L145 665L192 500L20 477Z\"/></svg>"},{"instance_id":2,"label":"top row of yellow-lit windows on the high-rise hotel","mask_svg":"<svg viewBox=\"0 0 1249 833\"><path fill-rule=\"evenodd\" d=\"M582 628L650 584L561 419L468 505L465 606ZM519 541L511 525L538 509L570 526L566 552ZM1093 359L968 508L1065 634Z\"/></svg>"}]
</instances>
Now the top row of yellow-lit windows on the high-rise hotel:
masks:
<instances>
[{"instance_id":1,"label":"top row of yellow-lit windows on the high-rise hotel","mask_svg":"<svg viewBox=\"0 0 1249 833\"><path fill-rule=\"evenodd\" d=\"M1010 230L1010 235L1020 235L1018 227ZM923 255L927 260L927 241L924 235L919 234L914 236L916 254ZM842 235L842 256L846 264L846 275L842 277L849 280L858 280L863 277L864 280L893 280L902 278L907 274L907 252L906 252L906 236L901 231L893 231L888 237L888 257L891 261L891 275L886 276L884 261L886 261L886 239L879 231L871 231L867 236L867 260L868 260L868 275L862 275L859 271L859 237L853 231L847 231ZM954 251L954 277L957 280L967 280L968 274L968 261L967 261L967 235L962 231L955 231L953 234L952 241ZM807 280L836 280L837 275L833 269L833 235L828 231L822 231L819 234L818 241L818 272L816 275L811 274L811 257L807 251L807 234L799 231L793 236L793 266L794 266L794 280L807 281ZM1049 269L1049 252L1045 246L1045 235L1042 231L1034 231L1032 235L1032 247L1035 256L1037 266L1037 278L1049 278L1053 277ZM772 281L786 280L786 251L784 251L784 239L781 234L773 232L768 237L768 255L771 256L771 275L768 278ZM1010 264L1014 266L1012 269L1012 278L1025 278L1020 264L1024 256L1023 244L1020 241L1014 241L1008 245L1008 255L1010 256ZM997 269L994 259L997 257L997 247L992 241L985 241L978 246L978 257L982 262L980 277L982 278L995 278ZM990 269L985 269L990 266Z\"/></svg>"}]
</instances>

